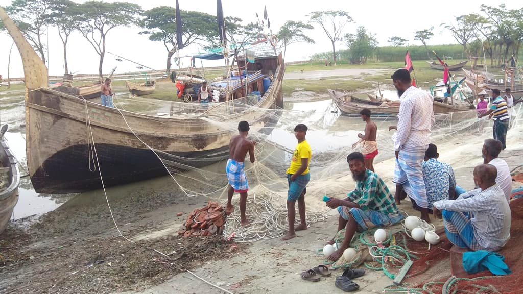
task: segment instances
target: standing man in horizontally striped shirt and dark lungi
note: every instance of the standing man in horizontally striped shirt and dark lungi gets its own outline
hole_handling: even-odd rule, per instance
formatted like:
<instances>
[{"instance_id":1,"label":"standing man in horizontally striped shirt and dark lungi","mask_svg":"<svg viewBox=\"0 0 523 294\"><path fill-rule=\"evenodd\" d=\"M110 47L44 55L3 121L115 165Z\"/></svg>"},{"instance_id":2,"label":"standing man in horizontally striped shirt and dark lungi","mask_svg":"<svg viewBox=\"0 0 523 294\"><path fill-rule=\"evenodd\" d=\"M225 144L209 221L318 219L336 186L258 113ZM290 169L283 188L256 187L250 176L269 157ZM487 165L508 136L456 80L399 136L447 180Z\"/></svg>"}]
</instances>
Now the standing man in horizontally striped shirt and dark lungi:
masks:
<instances>
[{"instance_id":1,"label":"standing man in horizontally striped shirt and dark lungi","mask_svg":"<svg viewBox=\"0 0 523 294\"><path fill-rule=\"evenodd\" d=\"M479 114L477 117L482 118L488 116L489 118L494 117L494 126L492 127L492 133L494 139L502 143L503 149L507 148L507 130L510 116L508 115L507 101L499 96L499 90L492 90L492 105L484 114Z\"/></svg>"}]
</instances>

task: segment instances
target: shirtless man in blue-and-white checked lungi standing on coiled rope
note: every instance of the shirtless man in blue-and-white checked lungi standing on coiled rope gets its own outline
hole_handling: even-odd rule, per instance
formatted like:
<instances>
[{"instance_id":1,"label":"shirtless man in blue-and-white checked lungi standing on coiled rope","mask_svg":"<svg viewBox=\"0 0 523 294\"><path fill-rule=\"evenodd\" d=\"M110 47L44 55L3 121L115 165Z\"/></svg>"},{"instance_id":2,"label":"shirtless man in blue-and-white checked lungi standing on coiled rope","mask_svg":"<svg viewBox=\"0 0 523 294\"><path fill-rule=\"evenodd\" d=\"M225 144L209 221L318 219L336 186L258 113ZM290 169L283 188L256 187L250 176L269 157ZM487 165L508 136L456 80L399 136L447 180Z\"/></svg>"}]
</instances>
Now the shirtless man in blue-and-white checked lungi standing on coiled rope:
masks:
<instances>
[{"instance_id":1,"label":"shirtless man in blue-and-white checked lungi standing on coiled rope","mask_svg":"<svg viewBox=\"0 0 523 294\"><path fill-rule=\"evenodd\" d=\"M227 212L233 211L232 196L234 192L240 193L240 214L242 225L249 224L245 217L245 206L247 202L247 191L249 185L247 184L247 177L245 176L245 155L249 153L251 163L254 163L254 146L256 142L247 139L249 133L249 123L240 121L238 123L238 131L240 134L235 135L229 142L229 160L227 161L226 173L229 179L229 193L227 201Z\"/></svg>"}]
</instances>

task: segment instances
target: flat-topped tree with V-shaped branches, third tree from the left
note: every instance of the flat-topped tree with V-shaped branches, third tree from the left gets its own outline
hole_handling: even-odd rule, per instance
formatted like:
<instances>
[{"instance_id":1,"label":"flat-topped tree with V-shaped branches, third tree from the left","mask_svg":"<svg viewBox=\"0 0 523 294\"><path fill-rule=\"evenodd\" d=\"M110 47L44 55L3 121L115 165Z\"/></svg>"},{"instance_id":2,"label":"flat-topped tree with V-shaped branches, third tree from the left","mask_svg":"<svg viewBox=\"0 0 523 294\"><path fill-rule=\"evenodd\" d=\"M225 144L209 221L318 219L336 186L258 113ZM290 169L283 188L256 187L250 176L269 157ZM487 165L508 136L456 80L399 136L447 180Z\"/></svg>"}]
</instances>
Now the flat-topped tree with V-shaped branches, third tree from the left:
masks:
<instances>
[{"instance_id":1,"label":"flat-topped tree with V-shaped branches, third tree from the left","mask_svg":"<svg viewBox=\"0 0 523 294\"><path fill-rule=\"evenodd\" d=\"M98 75L101 79L107 33L119 26L137 25L142 8L134 3L102 1L87 1L78 7L81 22L76 29L82 33L100 56Z\"/></svg>"}]
</instances>

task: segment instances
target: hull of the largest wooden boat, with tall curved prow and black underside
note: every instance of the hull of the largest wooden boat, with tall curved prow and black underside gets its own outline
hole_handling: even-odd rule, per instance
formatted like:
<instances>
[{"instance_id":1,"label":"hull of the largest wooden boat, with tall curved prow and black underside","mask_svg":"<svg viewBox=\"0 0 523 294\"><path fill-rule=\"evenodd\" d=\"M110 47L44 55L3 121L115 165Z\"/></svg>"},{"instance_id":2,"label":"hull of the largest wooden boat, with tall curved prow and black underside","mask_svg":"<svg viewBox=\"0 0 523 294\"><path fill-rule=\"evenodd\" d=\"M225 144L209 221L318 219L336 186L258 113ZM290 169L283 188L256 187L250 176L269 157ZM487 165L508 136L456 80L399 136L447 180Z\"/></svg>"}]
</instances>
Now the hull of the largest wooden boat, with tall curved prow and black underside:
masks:
<instances>
[{"instance_id":1,"label":"hull of the largest wooden boat, with tall curved prow and black underside","mask_svg":"<svg viewBox=\"0 0 523 294\"><path fill-rule=\"evenodd\" d=\"M253 105L247 103L248 97L240 98L244 99L240 103L211 105L170 101L179 111L172 107L167 115L153 116L53 91L47 87L46 66L1 7L0 19L24 64L27 167L38 193L97 189L101 177L107 187L166 175L157 154L168 156L169 167L176 171L226 159L229 140L237 131L224 122L246 120L256 130L272 115L260 109L282 104L285 63L274 51L256 61L262 72L274 76Z\"/></svg>"}]
</instances>

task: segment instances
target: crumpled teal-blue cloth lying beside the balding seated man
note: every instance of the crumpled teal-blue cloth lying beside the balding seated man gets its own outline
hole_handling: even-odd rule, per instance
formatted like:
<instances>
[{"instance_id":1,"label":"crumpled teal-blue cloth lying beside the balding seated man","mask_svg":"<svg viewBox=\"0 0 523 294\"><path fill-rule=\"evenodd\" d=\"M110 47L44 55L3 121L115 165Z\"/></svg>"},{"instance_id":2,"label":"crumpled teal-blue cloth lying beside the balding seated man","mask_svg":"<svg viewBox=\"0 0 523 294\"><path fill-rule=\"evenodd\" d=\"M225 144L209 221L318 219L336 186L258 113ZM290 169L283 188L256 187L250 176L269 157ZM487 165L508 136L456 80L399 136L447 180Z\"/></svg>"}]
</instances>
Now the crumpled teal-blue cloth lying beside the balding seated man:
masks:
<instances>
[{"instance_id":1,"label":"crumpled teal-blue cloth lying beside the balding seated man","mask_svg":"<svg viewBox=\"0 0 523 294\"><path fill-rule=\"evenodd\" d=\"M494 275L508 275L512 271L504 262L505 257L499 253L477 250L463 253L463 269L469 274L490 270Z\"/></svg>"}]
</instances>

